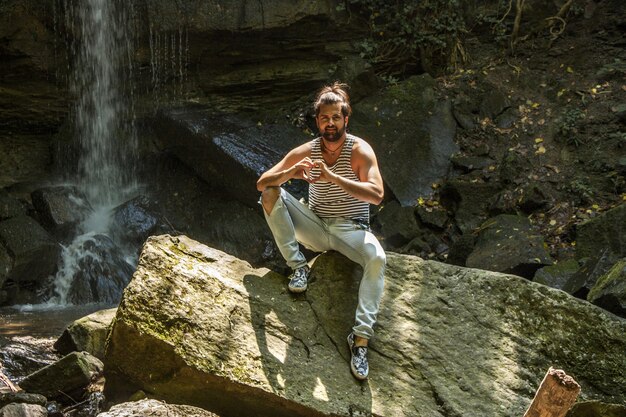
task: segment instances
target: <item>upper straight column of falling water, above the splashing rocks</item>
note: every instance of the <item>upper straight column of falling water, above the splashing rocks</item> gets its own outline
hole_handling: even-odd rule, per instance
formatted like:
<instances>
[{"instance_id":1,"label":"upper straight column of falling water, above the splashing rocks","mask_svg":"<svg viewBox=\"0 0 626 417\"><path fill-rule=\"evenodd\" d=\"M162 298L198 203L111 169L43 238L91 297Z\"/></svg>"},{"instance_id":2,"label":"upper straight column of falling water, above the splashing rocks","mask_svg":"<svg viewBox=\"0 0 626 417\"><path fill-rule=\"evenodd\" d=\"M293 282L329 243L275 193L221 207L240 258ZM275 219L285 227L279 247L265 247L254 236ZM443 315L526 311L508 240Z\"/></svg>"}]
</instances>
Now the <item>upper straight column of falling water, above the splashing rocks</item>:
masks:
<instances>
[{"instance_id":1,"label":"upper straight column of falling water, above the splashing rocks","mask_svg":"<svg viewBox=\"0 0 626 417\"><path fill-rule=\"evenodd\" d=\"M135 185L132 51L124 3L84 0L74 5L79 33L70 87L78 98L79 180L97 208L121 203Z\"/></svg>"}]
</instances>

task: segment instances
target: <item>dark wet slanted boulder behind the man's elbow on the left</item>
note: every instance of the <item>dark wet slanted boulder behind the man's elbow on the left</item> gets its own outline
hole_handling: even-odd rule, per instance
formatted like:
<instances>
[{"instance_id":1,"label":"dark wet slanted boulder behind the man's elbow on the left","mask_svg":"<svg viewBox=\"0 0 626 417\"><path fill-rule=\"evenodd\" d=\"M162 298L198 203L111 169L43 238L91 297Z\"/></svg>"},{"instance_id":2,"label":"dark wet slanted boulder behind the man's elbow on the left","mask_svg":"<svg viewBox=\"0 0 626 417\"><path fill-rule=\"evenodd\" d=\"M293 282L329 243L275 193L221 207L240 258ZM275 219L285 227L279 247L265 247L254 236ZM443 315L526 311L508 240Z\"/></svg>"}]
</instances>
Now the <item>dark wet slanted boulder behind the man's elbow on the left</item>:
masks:
<instances>
[{"instance_id":1,"label":"dark wet slanted boulder behind the man's elbow on the left","mask_svg":"<svg viewBox=\"0 0 626 417\"><path fill-rule=\"evenodd\" d=\"M216 114L207 109L177 109L157 116L157 134L174 153L207 183L221 187L250 207L256 207L259 176L285 154L309 140L288 124L259 126L251 120ZM303 181L287 189L305 195Z\"/></svg>"}]
</instances>

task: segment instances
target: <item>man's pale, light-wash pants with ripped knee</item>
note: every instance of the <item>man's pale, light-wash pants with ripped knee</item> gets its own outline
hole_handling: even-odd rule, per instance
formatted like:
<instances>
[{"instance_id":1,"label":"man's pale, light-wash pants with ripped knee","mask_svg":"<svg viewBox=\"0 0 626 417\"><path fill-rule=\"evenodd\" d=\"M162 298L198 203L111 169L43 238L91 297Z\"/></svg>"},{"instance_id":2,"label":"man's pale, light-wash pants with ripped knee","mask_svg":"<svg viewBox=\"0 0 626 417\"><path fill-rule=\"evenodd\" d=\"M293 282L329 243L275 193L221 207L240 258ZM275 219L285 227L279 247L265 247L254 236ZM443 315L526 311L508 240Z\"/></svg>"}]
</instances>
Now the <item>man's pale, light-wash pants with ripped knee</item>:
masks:
<instances>
[{"instance_id":1,"label":"man's pale, light-wash pants with ripped knee","mask_svg":"<svg viewBox=\"0 0 626 417\"><path fill-rule=\"evenodd\" d=\"M268 215L263 210L263 213L280 253L292 269L307 263L298 242L315 252L336 250L363 267L353 331L370 339L385 283L386 257L378 239L355 221L342 217L319 218L282 188L272 212Z\"/></svg>"}]
</instances>

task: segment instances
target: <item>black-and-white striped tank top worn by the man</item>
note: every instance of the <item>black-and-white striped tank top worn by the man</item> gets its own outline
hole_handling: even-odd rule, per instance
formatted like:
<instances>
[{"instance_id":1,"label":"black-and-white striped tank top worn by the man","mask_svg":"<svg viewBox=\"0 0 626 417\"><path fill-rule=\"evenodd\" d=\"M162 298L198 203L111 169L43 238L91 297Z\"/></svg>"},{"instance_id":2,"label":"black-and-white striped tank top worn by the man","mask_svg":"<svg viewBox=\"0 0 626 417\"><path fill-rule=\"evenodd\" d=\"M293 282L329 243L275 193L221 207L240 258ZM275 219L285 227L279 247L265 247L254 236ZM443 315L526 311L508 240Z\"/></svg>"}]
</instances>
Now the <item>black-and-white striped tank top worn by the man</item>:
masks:
<instances>
[{"instance_id":1,"label":"black-and-white striped tank top worn by the man","mask_svg":"<svg viewBox=\"0 0 626 417\"><path fill-rule=\"evenodd\" d=\"M352 170L350 160L352 157L352 146L356 136L347 134L346 142L341 149L341 154L334 165L328 168L337 175L344 178L359 181ZM313 139L311 149L311 159L322 159L321 138ZM312 176L319 175L319 169L311 170ZM358 200L346 193L336 184L331 182L316 182L309 184L309 208L321 218L344 217L369 224L370 205L365 201Z\"/></svg>"}]
</instances>

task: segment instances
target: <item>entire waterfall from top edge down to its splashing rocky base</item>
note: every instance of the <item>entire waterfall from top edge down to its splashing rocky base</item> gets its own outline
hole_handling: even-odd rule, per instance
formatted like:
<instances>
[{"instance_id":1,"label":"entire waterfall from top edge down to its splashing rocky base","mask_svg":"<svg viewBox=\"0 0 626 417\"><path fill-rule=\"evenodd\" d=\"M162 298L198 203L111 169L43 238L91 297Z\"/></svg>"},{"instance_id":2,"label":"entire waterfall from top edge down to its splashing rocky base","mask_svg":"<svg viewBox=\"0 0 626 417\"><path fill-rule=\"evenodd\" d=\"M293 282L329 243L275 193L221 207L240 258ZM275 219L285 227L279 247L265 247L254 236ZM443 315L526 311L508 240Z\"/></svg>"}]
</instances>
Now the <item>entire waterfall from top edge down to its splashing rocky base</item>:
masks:
<instances>
[{"instance_id":1,"label":"entire waterfall from top edge down to its splashing rocky base","mask_svg":"<svg viewBox=\"0 0 626 417\"><path fill-rule=\"evenodd\" d=\"M55 24L63 21L65 26L68 84L74 97L78 166L70 182L93 210L74 240L63 245L54 294L45 305L114 303L132 267L126 261L131 256L114 242L112 209L138 192L132 2L57 0L54 13Z\"/></svg>"}]
</instances>

